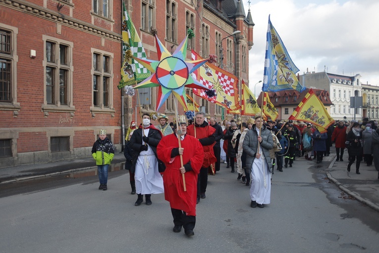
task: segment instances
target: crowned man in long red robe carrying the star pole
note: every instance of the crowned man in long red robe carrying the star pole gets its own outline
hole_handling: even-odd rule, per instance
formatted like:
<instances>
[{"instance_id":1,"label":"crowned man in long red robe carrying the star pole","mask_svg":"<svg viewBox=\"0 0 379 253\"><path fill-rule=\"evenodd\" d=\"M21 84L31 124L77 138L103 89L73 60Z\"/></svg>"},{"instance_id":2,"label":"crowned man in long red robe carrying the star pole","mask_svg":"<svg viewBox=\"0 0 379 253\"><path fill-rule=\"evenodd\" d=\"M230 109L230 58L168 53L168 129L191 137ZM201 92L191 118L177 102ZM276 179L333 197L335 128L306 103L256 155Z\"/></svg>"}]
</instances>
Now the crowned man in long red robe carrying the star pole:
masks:
<instances>
[{"instance_id":1,"label":"crowned man in long red robe carrying the star pole","mask_svg":"<svg viewBox=\"0 0 379 253\"><path fill-rule=\"evenodd\" d=\"M178 233L183 226L184 233L193 236L196 222L197 177L203 164L204 151L195 137L186 134L186 119L181 118L184 118L180 121L181 131L175 129L175 133L163 137L158 144L157 152L159 159L166 165L163 174L164 198L170 202L174 221L172 230ZM181 147L177 135L181 138Z\"/></svg>"}]
</instances>

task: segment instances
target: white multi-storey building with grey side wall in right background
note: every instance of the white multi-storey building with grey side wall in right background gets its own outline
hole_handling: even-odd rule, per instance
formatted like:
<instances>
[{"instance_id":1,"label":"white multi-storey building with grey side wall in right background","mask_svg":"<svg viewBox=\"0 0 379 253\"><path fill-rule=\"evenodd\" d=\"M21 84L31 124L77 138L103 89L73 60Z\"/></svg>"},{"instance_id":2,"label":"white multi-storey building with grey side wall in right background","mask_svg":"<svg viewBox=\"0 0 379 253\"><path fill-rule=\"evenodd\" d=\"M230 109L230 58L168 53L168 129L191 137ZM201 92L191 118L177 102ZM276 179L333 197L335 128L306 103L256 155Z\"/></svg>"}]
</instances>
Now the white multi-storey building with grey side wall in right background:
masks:
<instances>
[{"instance_id":1,"label":"white multi-storey building with grey side wall in right background","mask_svg":"<svg viewBox=\"0 0 379 253\"><path fill-rule=\"evenodd\" d=\"M355 76L338 75L327 72L307 72L299 76L300 83L307 88L325 89L329 92L330 116L334 120L361 120L362 108L356 110L350 108L350 97L362 96L361 75Z\"/></svg>"}]
</instances>

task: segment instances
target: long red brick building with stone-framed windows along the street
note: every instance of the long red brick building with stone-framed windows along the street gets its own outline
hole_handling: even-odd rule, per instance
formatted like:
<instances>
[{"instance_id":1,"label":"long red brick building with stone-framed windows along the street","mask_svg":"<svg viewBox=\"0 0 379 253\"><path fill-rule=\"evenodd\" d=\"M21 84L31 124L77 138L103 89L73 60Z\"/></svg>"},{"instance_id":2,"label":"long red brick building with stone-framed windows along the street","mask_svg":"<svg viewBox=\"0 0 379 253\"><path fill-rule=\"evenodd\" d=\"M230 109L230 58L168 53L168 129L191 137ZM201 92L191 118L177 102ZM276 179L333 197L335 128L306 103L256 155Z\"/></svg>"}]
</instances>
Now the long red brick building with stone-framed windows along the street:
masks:
<instances>
[{"instance_id":1,"label":"long red brick building with stone-framed windows along the street","mask_svg":"<svg viewBox=\"0 0 379 253\"><path fill-rule=\"evenodd\" d=\"M219 65L222 52L222 67L248 83L254 23L239 0L0 0L0 168L88 157L102 128L122 149L123 127L139 119L136 96L117 89L123 2L148 59L151 27L172 52L191 28L188 59L194 49ZM148 92L144 112L155 109L157 89ZM215 104L196 102L220 119ZM172 99L160 110L173 111Z\"/></svg>"}]
</instances>

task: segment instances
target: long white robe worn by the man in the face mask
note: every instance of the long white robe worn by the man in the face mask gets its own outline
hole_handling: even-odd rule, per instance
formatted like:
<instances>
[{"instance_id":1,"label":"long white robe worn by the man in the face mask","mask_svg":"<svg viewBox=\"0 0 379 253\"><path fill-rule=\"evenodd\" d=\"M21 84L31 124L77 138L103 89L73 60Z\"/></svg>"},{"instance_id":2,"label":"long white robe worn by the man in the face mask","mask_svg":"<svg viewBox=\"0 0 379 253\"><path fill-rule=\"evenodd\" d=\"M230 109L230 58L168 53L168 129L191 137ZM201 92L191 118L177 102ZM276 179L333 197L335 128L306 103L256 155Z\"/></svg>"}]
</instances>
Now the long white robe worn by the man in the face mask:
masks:
<instances>
[{"instance_id":1,"label":"long white robe worn by the man in the face mask","mask_svg":"<svg viewBox=\"0 0 379 253\"><path fill-rule=\"evenodd\" d=\"M148 136L149 129L144 129L145 136ZM142 141L142 144L145 144ZM163 178L158 171L158 160L148 144L147 151L141 151L136 162L134 172L136 192L138 194L158 194L163 193Z\"/></svg>"}]
</instances>

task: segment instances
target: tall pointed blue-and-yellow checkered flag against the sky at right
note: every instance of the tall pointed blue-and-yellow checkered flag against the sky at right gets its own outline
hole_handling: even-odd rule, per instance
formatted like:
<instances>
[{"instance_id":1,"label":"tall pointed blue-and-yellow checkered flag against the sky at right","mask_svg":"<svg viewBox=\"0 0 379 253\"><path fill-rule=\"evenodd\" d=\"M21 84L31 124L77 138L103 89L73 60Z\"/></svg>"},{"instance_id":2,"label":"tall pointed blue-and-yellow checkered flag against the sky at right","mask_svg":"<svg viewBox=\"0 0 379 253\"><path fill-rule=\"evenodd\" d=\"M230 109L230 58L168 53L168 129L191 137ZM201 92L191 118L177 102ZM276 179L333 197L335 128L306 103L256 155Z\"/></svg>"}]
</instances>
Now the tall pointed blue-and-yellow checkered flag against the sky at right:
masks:
<instances>
[{"instance_id":1,"label":"tall pointed blue-and-yellow checkered flag against the sky at right","mask_svg":"<svg viewBox=\"0 0 379 253\"><path fill-rule=\"evenodd\" d=\"M287 89L295 89L299 92L304 91L306 88L301 86L296 77L299 69L292 62L279 34L271 24L270 15L266 37L266 59L262 90L264 92Z\"/></svg>"}]
</instances>

